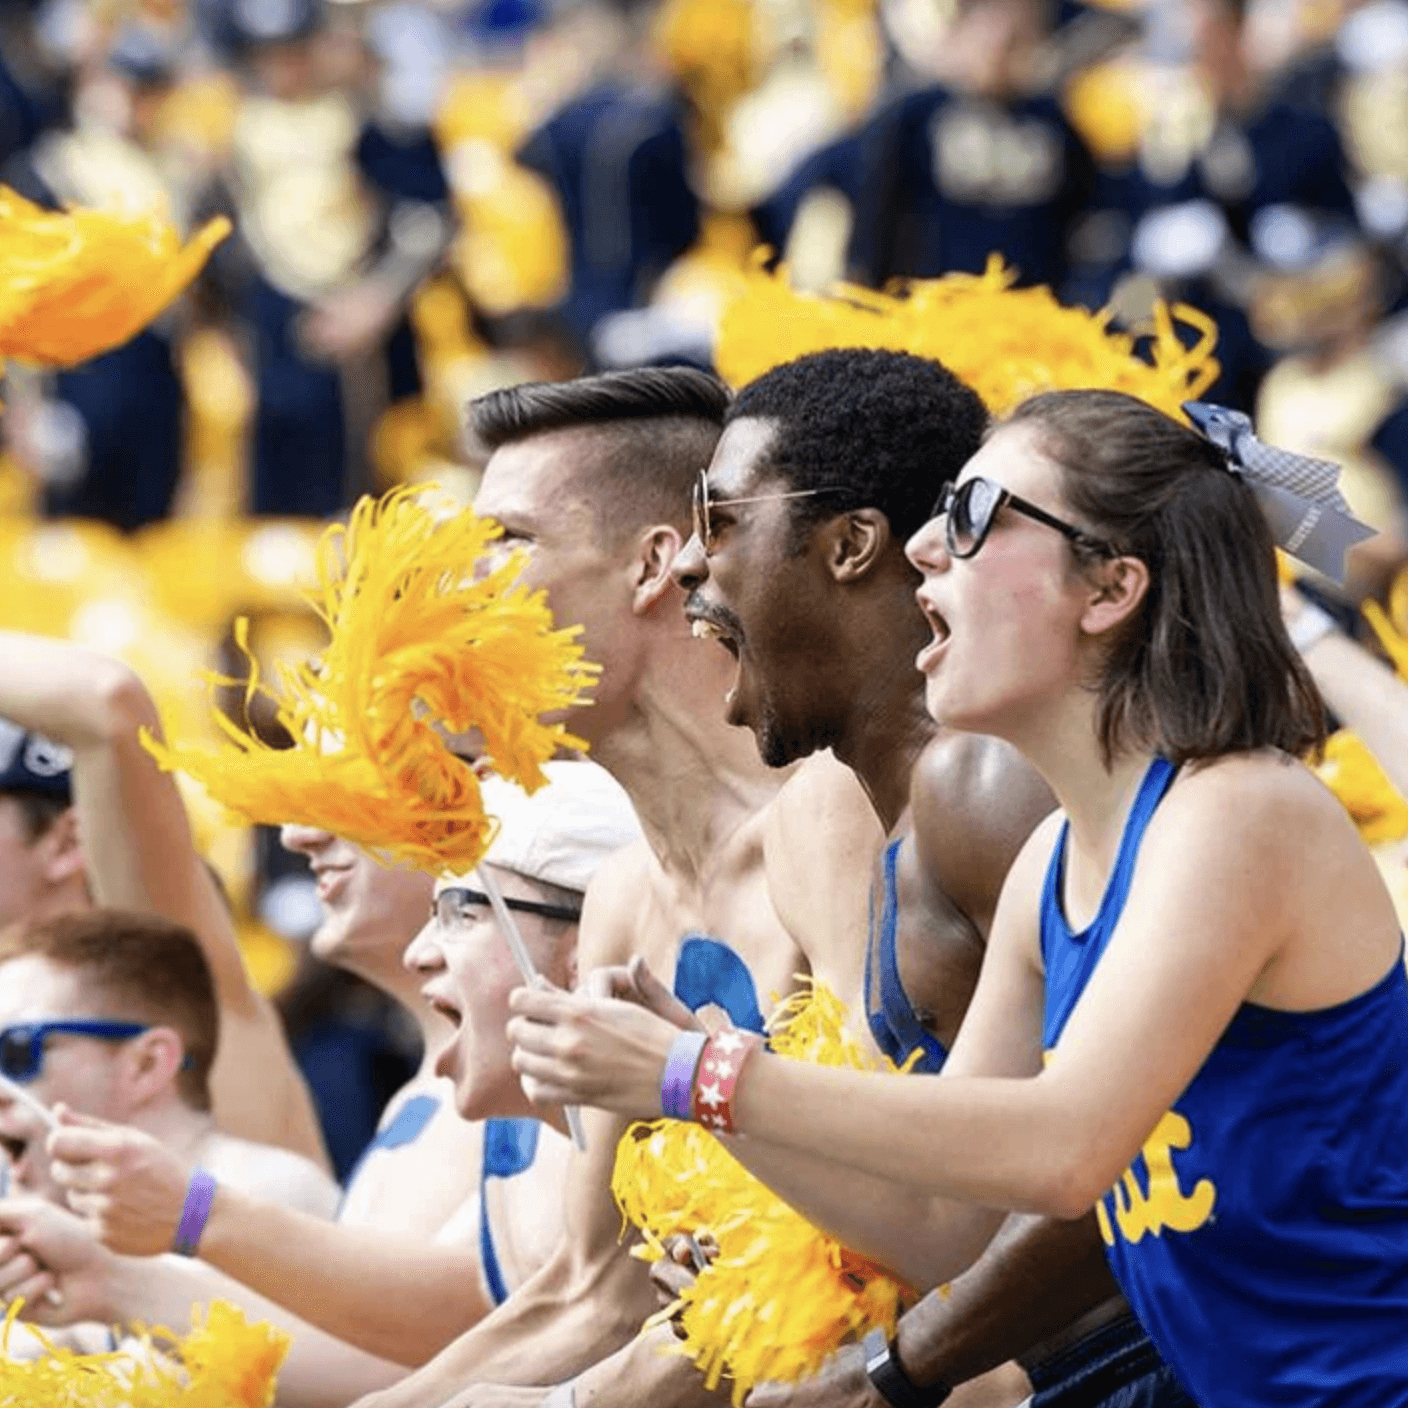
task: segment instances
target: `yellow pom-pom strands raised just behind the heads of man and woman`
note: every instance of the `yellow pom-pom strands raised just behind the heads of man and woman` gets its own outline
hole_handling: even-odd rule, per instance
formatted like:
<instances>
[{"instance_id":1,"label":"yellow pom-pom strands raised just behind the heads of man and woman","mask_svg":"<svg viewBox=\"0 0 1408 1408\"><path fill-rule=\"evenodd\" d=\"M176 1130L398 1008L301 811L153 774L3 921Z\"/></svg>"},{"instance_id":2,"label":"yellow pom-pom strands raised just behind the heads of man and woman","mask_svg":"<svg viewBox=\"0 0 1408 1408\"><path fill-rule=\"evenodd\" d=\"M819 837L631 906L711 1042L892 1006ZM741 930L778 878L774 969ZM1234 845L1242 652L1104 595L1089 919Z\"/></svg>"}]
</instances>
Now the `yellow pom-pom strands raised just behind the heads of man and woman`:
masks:
<instances>
[{"instance_id":1,"label":"yellow pom-pom strands raised just behind the heads of man and woman","mask_svg":"<svg viewBox=\"0 0 1408 1408\"><path fill-rule=\"evenodd\" d=\"M1128 391L1178 420L1218 377L1217 327L1187 304L1157 304L1146 339L1110 327L1108 313L1062 307L1049 289L1014 289L1015 275L993 255L981 275L917 279L893 293L842 284L828 296L794 291L786 270L755 268L724 310L714 359L743 386L770 367L828 348L887 348L936 358L1004 415L1038 391ZM1191 348L1177 324L1198 334Z\"/></svg>"}]
</instances>

